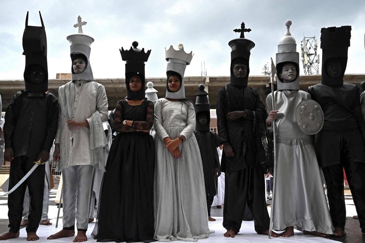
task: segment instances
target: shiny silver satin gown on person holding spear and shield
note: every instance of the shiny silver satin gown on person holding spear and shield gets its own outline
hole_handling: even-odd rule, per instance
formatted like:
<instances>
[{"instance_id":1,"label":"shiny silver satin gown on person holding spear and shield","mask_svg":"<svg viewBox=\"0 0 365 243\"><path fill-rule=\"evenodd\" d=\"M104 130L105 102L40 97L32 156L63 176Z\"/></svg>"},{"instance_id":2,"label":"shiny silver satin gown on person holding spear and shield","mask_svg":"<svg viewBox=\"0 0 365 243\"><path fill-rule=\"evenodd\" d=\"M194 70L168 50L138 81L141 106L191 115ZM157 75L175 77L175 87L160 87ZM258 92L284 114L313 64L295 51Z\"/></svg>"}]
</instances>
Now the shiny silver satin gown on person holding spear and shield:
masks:
<instances>
[{"instance_id":1,"label":"shiny silver satin gown on person holding spear and shield","mask_svg":"<svg viewBox=\"0 0 365 243\"><path fill-rule=\"evenodd\" d=\"M299 130L295 120L297 105L310 98L310 94L301 90L275 91L278 117L273 230L294 226L300 231L333 234L312 138ZM270 110L272 94L266 98L266 113Z\"/></svg>"}]
</instances>

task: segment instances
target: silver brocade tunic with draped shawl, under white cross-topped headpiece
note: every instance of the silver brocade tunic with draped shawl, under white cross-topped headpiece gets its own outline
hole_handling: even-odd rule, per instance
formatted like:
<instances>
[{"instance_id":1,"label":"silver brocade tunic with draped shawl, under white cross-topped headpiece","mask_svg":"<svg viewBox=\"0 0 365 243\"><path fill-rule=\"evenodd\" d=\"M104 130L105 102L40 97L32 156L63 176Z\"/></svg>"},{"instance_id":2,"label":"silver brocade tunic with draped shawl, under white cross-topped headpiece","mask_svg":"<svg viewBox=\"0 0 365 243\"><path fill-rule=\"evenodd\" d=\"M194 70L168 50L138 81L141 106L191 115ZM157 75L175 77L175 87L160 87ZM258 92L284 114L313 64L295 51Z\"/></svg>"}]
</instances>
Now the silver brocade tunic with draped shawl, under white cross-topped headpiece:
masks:
<instances>
[{"instance_id":1,"label":"silver brocade tunic with draped shawl, under white cross-topped headpiece","mask_svg":"<svg viewBox=\"0 0 365 243\"><path fill-rule=\"evenodd\" d=\"M80 82L80 81L78 81ZM59 116L55 144L59 144L60 161L57 170L70 165L103 163L103 147L107 144L103 122L108 120L108 99L105 88L94 81L70 81L59 87ZM68 129L66 120L89 122L89 127ZM99 144L98 146L96 144Z\"/></svg>"}]
</instances>

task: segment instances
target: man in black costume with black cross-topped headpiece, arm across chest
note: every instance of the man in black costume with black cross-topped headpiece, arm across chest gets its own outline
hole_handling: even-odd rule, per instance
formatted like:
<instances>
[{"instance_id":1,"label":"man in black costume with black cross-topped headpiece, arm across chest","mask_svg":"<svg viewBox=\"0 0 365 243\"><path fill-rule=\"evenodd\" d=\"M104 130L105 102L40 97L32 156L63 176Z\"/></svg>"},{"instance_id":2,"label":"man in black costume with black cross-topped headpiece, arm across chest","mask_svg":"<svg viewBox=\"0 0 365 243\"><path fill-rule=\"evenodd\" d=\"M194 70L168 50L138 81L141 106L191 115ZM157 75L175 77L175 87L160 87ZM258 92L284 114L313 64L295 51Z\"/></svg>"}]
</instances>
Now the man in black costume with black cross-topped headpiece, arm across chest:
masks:
<instances>
[{"instance_id":1,"label":"man in black costume with black cross-topped headpiece, arm across chest","mask_svg":"<svg viewBox=\"0 0 365 243\"><path fill-rule=\"evenodd\" d=\"M231 82L218 90L216 109L218 136L224 145L221 170L226 175L223 227L227 232L224 236L234 237L239 232L246 202L255 221L255 231L269 234L264 172L257 163L271 153L264 151L258 139L258 128L266 126L265 106L258 91L247 87L250 50L255 43L237 38L228 44L232 48ZM272 232L272 236L279 235Z\"/></svg>"}]
</instances>

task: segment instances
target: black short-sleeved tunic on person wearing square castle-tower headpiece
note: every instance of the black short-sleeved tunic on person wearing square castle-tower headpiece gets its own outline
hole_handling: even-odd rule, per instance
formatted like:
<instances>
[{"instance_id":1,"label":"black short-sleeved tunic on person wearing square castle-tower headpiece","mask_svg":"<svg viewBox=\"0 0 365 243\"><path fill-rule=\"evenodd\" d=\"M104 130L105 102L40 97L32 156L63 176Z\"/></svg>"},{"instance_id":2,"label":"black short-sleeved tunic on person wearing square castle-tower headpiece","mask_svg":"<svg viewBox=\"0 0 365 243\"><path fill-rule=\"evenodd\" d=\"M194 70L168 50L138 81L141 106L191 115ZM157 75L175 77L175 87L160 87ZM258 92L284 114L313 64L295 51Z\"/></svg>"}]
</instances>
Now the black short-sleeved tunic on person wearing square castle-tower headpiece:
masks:
<instances>
[{"instance_id":1,"label":"black short-sleeved tunic on person wearing square castle-tower headpiece","mask_svg":"<svg viewBox=\"0 0 365 243\"><path fill-rule=\"evenodd\" d=\"M354 117L354 108L360 107L359 88L351 83L336 87L319 83L310 87L309 93L324 114L323 128L315 138L319 166L340 163L341 137L353 160L365 162L364 142Z\"/></svg>"}]
</instances>

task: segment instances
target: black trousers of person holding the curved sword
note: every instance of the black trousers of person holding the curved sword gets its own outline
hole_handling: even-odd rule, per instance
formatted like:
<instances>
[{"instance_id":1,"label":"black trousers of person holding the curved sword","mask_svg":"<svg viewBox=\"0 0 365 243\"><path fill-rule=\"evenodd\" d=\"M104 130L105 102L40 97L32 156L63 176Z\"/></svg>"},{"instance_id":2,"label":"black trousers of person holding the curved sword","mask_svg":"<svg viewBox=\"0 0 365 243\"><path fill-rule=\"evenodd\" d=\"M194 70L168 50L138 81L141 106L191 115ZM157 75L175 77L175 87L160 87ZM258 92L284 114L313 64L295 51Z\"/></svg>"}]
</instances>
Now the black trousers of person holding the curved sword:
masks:
<instances>
[{"instance_id":1,"label":"black trousers of person holding the curved sword","mask_svg":"<svg viewBox=\"0 0 365 243\"><path fill-rule=\"evenodd\" d=\"M28 171L35 165L36 158L25 156L15 157L10 163L9 189L13 188ZM28 215L27 232L37 232L42 217L43 208L43 187L44 187L45 165L38 165L24 183L8 196L8 217L9 232L16 233L20 230L22 222L23 201L26 187L28 186L30 196L30 211Z\"/></svg>"}]
</instances>

